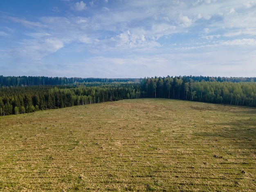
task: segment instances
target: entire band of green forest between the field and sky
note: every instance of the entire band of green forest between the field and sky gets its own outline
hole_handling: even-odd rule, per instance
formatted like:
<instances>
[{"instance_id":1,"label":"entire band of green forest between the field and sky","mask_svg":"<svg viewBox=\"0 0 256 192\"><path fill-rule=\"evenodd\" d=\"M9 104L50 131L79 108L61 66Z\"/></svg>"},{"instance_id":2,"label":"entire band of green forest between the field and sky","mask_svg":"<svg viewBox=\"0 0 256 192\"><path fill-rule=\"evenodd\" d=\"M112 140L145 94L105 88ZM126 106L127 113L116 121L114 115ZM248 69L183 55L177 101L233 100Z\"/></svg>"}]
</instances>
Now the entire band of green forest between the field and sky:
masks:
<instances>
[{"instance_id":1,"label":"entire band of green forest between the field and sky","mask_svg":"<svg viewBox=\"0 0 256 192\"><path fill-rule=\"evenodd\" d=\"M133 98L172 98L256 107L256 78L0 76L0 116Z\"/></svg>"}]
</instances>

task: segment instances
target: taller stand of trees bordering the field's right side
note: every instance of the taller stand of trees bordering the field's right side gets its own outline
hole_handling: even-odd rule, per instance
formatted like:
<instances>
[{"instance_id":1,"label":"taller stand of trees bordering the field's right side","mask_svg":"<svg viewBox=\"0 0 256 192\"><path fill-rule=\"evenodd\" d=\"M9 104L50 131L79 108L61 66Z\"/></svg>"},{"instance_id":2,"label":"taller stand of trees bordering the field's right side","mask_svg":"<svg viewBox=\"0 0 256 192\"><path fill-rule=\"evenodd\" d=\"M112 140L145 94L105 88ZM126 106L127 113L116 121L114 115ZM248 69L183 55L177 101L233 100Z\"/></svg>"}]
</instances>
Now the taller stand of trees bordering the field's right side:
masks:
<instances>
[{"instance_id":1,"label":"taller stand of trees bordering the field's right side","mask_svg":"<svg viewBox=\"0 0 256 192\"><path fill-rule=\"evenodd\" d=\"M256 82L194 81L186 77L146 78L141 96L256 107Z\"/></svg>"}]
</instances>

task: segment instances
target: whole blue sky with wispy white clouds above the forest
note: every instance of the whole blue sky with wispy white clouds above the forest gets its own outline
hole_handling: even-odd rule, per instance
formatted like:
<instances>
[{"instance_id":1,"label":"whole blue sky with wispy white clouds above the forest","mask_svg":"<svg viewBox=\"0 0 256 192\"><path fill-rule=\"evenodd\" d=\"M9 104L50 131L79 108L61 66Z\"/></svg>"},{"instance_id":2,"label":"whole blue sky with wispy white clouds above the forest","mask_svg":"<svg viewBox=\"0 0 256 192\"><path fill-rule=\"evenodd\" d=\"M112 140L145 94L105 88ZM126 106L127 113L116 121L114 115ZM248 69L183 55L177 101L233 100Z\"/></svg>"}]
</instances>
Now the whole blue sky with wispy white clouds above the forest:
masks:
<instances>
[{"instance_id":1,"label":"whole blue sky with wispy white clouds above the forest","mask_svg":"<svg viewBox=\"0 0 256 192\"><path fill-rule=\"evenodd\" d=\"M0 75L256 76L256 0L0 0Z\"/></svg>"}]
</instances>

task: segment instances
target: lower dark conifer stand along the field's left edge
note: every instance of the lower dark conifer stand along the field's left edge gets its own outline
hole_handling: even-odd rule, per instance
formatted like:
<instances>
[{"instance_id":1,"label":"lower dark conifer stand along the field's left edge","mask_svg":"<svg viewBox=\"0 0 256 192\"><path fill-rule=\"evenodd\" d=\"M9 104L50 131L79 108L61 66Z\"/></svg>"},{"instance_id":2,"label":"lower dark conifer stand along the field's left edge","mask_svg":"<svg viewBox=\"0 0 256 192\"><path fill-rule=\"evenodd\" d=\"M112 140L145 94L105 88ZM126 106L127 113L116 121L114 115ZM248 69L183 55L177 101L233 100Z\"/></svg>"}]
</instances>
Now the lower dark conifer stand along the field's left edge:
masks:
<instances>
[{"instance_id":1,"label":"lower dark conifer stand along the field's left edge","mask_svg":"<svg viewBox=\"0 0 256 192\"><path fill-rule=\"evenodd\" d=\"M0 90L0 116L140 98L139 83L113 83L99 87L84 85L2 87Z\"/></svg>"}]
</instances>

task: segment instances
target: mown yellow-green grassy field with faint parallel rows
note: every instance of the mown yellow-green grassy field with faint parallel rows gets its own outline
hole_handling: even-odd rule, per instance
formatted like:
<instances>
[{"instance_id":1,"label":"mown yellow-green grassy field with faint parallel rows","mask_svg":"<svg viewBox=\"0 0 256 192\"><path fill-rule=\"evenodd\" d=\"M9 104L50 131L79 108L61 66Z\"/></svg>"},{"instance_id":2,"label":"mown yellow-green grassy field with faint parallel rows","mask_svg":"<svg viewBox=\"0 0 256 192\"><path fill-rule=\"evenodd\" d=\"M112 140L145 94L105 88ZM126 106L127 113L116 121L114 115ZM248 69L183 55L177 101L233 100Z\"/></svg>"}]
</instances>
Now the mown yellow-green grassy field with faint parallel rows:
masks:
<instances>
[{"instance_id":1,"label":"mown yellow-green grassy field with faint parallel rows","mask_svg":"<svg viewBox=\"0 0 256 192\"><path fill-rule=\"evenodd\" d=\"M256 191L256 109L136 99L0 117L0 191Z\"/></svg>"}]
</instances>

